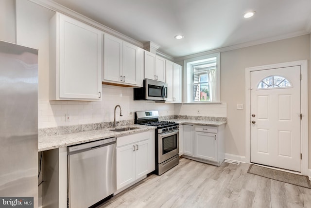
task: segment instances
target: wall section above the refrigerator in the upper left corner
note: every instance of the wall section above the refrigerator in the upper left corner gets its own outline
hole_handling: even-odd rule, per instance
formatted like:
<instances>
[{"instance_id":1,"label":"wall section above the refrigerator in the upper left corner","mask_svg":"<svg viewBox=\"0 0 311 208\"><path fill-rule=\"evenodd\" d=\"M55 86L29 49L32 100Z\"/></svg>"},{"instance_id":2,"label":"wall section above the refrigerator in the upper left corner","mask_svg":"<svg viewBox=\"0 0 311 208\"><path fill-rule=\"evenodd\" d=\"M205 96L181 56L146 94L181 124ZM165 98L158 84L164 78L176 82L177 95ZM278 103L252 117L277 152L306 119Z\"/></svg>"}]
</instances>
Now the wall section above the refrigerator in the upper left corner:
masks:
<instances>
[{"instance_id":1,"label":"wall section above the refrigerator in the upper left corner","mask_svg":"<svg viewBox=\"0 0 311 208\"><path fill-rule=\"evenodd\" d=\"M15 41L15 0L0 0L0 40Z\"/></svg>"}]
</instances>

